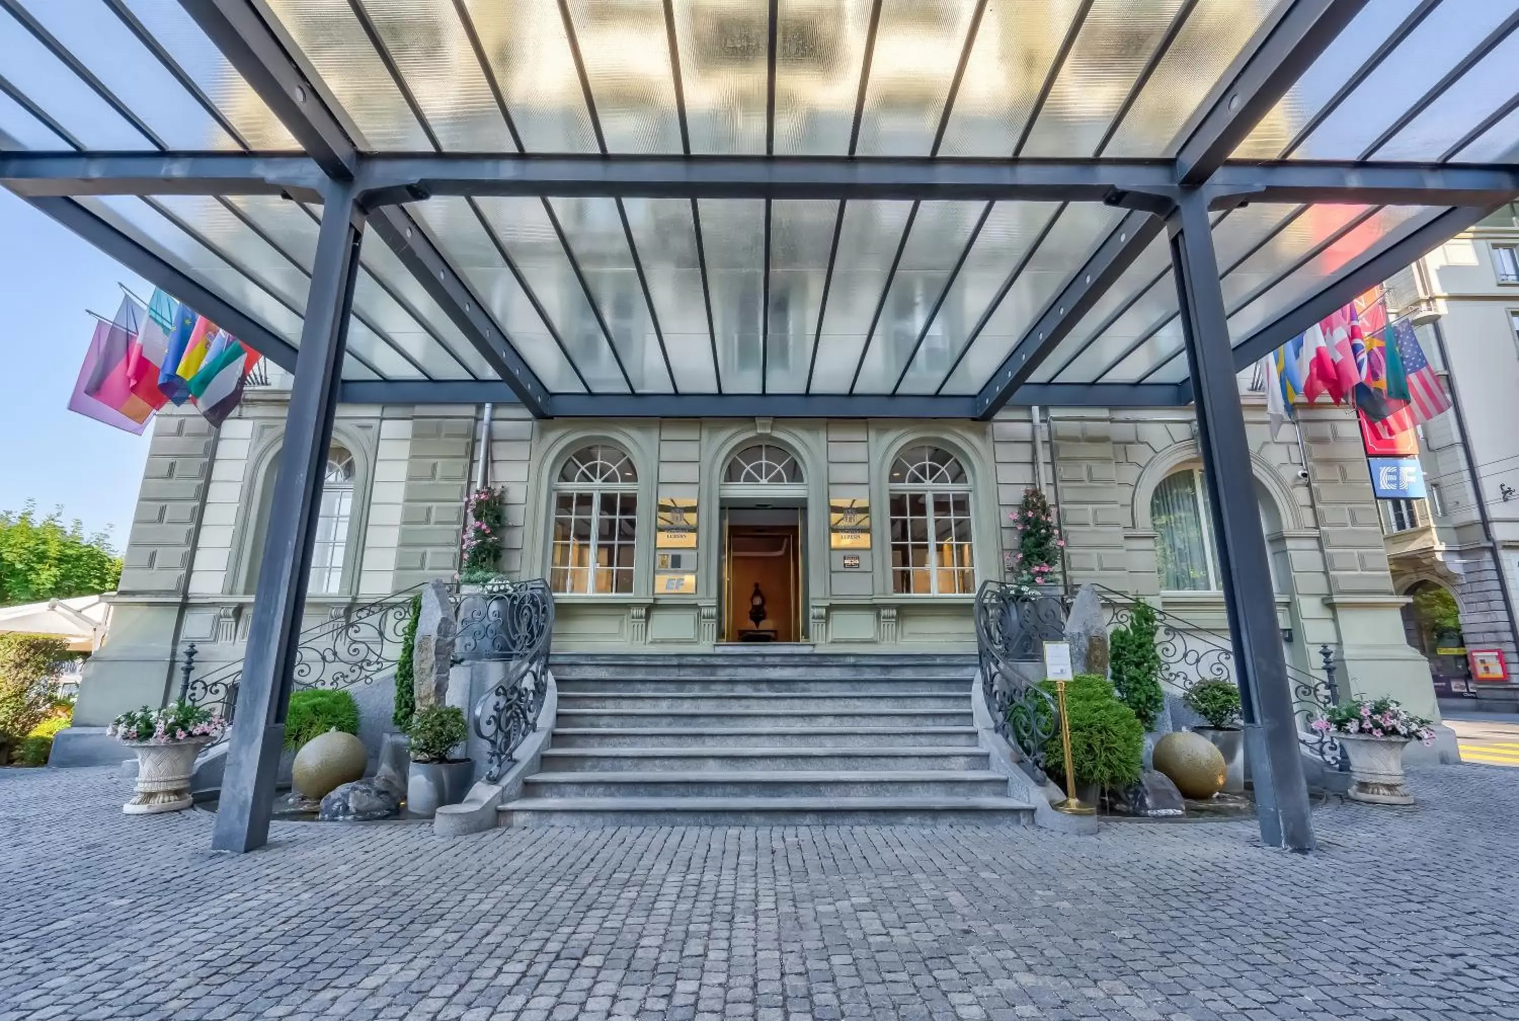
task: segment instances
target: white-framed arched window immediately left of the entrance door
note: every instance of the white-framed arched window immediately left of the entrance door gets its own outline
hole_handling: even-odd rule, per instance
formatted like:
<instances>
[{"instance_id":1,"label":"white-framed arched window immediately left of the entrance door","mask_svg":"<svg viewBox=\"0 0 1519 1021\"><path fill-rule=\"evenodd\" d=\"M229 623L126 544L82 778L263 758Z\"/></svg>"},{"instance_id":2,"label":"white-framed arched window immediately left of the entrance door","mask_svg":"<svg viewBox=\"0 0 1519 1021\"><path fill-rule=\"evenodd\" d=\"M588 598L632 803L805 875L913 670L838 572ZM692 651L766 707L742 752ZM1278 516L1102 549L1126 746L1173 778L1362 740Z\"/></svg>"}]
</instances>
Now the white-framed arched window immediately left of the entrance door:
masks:
<instances>
[{"instance_id":1,"label":"white-framed arched window immediately left of the entrance door","mask_svg":"<svg viewBox=\"0 0 1519 1021\"><path fill-rule=\"evenodd\" d=\"M550 585L556 593L633 591L638 473L609 444L570 454L554 482Z\"/></svg>"}]
</instances>

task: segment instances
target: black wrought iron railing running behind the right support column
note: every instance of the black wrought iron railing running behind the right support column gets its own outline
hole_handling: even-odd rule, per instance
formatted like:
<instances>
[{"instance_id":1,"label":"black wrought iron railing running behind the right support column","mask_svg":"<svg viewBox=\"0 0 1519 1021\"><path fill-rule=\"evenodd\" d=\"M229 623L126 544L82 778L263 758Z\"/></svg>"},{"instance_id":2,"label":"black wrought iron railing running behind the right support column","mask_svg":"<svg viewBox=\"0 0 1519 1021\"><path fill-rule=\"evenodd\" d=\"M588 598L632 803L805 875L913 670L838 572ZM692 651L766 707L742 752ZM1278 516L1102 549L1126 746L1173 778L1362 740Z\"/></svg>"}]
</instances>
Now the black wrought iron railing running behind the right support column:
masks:
<instances>
[{"instance_id":1,"label":"black wrought iron railing running behind the right support column","mask_svg":"<svg viewBox=\"0 0 1519 1021\"><path fill-rule=\"evenodd\" d=\"M1103 597L1103 605L1109 611L1107 626L1126 627L1133 620L1133 609L1138 600L1133 596L1107 588L1095 586ZM1224 644L1226 640L1215 637L1202 624L1183 620L1176 614L1151 606L1156 617L1156 652L1161 655L1161 682L1173 693L1185 696L1186 690L1198 681L1235 679L1233 649ZM1334 650L1322 646L1318 655L1323 659L1323 676L1306 673L1287 664L1287 678L1293 687L1293 705L1296 706L1299 728L1297 740L1315 758L1329 769L1344 772L1349 769L1344 749L1331 734L1314 731L1309 723L1325 710L1340 702L1340 690L1335 684Z\"/></svg>"}]
</instances>

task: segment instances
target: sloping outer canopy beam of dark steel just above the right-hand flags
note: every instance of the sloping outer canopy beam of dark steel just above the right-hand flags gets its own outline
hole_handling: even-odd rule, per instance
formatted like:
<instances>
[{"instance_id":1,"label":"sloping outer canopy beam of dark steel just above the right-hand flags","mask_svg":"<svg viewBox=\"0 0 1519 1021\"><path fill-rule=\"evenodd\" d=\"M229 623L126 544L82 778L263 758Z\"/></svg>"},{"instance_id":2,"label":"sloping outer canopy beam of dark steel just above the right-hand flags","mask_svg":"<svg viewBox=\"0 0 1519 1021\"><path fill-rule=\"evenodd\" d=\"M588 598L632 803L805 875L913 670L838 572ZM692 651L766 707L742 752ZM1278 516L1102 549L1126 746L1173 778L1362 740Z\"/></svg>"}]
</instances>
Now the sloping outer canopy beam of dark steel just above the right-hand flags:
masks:
<instances>
[{"instance_id":1,"label":"sloping outer canopy beam of dark steel just above the right-hand flags","mask_svg":"<svg viewBox=\"0 0 1519 1021\"><path fill-rule=\"evenodd\" d=\"M1235 369L1249 368L1312 324L1353 301L1356 295L1388 280L1393 273L1417 261L1457 234L1470 229L1499 205L1502 204L1457 207L1446 210L1432 220L1426 220L1422 225L1416 223L1401 234L1390 235L1385 245L1363 255L1332 284L1282 311L1236 343L1233 346ZM1180 384L1180 397L1183 401L1192 400L1192 384L1189 381Z\"/></svg>"}]
</instances>

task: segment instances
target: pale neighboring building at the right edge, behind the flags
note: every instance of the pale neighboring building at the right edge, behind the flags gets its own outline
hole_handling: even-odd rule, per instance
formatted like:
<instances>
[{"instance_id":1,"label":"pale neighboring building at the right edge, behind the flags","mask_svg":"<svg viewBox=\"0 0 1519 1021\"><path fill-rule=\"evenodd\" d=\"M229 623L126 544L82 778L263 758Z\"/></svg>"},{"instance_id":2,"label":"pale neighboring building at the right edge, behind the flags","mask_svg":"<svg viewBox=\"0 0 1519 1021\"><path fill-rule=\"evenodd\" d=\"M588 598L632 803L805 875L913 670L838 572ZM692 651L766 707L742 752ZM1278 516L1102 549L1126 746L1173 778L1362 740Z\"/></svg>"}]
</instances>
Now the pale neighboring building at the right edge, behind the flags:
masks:
<instances>
[{"instance_id":1,"label":"pale neighboring building at the right edge, behind the flags","mask_svg":"<svg viewBox=\"0 0 1519 1021\"><path fill-rule=\"evenodd\" d=\"M1519 603L1519 208L1507 205L1388 281L1388 305L1417 324L1455 407L1420 428L1428 497L1382 503L1410 643L1442 694L1464 694L1466 649L1516 665ZM1499 564L1502 570L1499 571ZM1438 620L1445 594L1460 624ZM1442 652L1445 650L1445 652Z\"/></svg>"}]
</instances>

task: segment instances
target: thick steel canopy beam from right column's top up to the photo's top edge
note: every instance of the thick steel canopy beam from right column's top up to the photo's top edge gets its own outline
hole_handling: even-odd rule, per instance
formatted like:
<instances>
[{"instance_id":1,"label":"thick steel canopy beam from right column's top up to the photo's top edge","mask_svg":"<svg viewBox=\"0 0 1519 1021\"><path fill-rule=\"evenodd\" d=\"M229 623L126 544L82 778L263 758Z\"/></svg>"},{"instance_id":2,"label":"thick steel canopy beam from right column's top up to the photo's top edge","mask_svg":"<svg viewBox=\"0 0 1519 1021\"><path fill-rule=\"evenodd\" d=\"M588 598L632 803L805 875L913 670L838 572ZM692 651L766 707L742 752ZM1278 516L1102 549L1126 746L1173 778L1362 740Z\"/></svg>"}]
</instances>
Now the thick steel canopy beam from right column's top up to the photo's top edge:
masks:
<instances>
[{"instance_id":1,"label":"thick steel canopy beam from right column's top up to the photo's top edge","mask_svg":"<svg viewBox=\"0 0 1519 1021\"><path fill-rule=\"evenodd\" d=\"M1176 176L1200 185L1224 164L1367 0L1291 0L1250 53L1223 74L1176 155Z\"/></svg>"}]
</instances>

